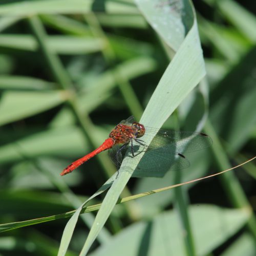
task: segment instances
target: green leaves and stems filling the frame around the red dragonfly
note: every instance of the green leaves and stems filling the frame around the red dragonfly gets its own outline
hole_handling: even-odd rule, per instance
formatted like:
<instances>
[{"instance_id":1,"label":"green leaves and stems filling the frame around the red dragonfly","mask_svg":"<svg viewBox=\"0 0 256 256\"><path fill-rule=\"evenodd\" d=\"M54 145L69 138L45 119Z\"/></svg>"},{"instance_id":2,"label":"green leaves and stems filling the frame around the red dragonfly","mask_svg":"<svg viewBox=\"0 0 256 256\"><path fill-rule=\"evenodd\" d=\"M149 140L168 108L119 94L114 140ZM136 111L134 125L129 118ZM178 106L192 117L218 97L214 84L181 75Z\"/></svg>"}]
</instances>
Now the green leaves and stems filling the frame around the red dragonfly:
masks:
<instances>
[{"instance_id":1,"label":"green leaves and stems filling the frame around the red dragonfly","mask_svg":"<svg viewBox=\"0 0 256 256\"><path fill-rule=\"evenodd\" d=\"M136 196L255 155L256 4L195 2L207 74L200 82L205 71L192 3L136 3L0 3L1 254L62 255L67 248L67 255L81 248L82 255L256 254L253 162L213 179ZM174 26L177 14L184 19ZM188 169L162 179L127 183L131 175L125 172L116 179L106 152L59 176L130 115L166 129L204 127L214 145L187 156ZM90 200L86 214L78 218L76 211L62 236L65 217L112 183L108 194ZM119 195L127 202L114 207Z\"/></svg>"}]
</instances>

